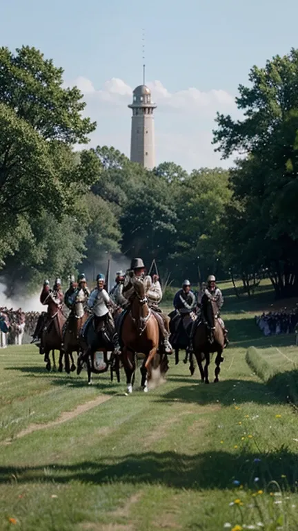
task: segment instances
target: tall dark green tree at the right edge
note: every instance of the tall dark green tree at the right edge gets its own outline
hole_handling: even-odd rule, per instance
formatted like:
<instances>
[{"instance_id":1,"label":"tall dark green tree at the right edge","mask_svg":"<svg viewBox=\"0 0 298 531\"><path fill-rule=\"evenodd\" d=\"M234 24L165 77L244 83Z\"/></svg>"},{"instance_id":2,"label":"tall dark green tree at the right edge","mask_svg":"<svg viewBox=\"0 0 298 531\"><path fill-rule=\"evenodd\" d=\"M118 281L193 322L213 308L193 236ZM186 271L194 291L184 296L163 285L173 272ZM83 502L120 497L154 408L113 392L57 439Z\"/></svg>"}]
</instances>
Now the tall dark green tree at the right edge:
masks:
<instances>
[{"instance_id":1,"label":"tall dark green tree at the right edge","mask_svg":"<svg viewBox=\"0 0 298 531\"><path fill-rule=\"evenodd\" d=\"M296 295L298 51L274 57L265 68L255 66L250 82L250 88L239 86L236 100L244 120L217 115L214 132L224 158L236 150L246 153L231 179L246 220L235 256L247 245L250 270L266 267L278 297Z\"/></svg>"}]
</instances>

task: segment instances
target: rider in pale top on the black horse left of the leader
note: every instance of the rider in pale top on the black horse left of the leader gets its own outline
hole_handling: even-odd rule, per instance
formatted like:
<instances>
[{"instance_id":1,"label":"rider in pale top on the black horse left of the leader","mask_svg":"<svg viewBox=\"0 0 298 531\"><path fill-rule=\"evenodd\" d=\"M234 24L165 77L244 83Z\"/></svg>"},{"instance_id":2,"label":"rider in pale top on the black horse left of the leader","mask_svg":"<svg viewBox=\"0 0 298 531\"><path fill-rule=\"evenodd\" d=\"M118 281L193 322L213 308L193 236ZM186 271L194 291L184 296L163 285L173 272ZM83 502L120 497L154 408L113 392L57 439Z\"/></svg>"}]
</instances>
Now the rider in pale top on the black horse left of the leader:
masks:
<instances>
[{"instance_id":1,"label":"rider in pale top on the black horse left of the leader","mask_svg":"<svg viewBox=\"0 0 298 531\"><path fill-rule=\"evenodd\" d=\"M88 306L93 310L95 328L97 328L101 321L104 321L108 335L114 346L114 353L119 355L121 354L121 349L119 346L118 334L116 332L114 319L108 309L108 306L112 306L113 308L117 308L117 306L112 299L110 299L108 292L103 288L104 283L105 277L102 273L99 273L97 275L97 287L91 292Z\"/></svg>"}]
</instances>

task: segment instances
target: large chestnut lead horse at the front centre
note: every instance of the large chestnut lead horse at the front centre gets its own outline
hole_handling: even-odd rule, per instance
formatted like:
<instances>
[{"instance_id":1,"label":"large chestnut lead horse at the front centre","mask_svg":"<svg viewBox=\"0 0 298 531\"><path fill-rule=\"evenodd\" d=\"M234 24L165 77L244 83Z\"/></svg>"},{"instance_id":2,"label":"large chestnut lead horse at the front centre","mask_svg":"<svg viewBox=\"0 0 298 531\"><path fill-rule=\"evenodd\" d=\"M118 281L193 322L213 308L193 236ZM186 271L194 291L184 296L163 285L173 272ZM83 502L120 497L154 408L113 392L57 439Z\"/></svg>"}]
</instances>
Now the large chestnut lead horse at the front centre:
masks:
<instances>
[{"instance_id":1,"label":"large chestnut lead horse at the front centre","mask_svg":"<svg viewBox=\"0 0 298 531\"><path fill-rule=\"evenodd\" d=\"M144 355L141 366L141 387L146 393L148 382L152 377L152 369L160 367L161 373L168 370L166 355L159 357L159 325L148 306L146 288L141 280L135 280L135 296L128 314L124 317L121 342L123 367L126 372L128 393L132 393L135 381L137 353Z\"/></svg>"}]
</instances>

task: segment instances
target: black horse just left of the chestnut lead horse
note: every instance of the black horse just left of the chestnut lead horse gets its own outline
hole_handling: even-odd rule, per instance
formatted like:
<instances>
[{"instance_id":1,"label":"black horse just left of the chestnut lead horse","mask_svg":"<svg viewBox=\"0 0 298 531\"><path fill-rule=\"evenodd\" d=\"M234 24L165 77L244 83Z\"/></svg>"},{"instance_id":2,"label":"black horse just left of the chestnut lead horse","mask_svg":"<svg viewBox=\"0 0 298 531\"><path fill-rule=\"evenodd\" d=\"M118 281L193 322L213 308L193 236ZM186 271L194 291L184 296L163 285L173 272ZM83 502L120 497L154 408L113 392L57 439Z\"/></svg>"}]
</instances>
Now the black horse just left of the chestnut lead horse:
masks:
<instances>
[{"instance_id":1,"label":"black horse just left of the chestnut lead horse","mask_svg":"<svg viewBox=\"0 0 298 531\"><path fill-rule=\"evenodd\" d=\"M93 316L88 317L88 320L81 329L79 344L81 350L79 357L83 355L86 359L88 385L92 384L91 373L106 373L109 368L111 381L115 372L117 382L120 382L119 357L117 356L115 359L112 359L111 353L114 350L114 345L110 341L103 320L95 328ZM79 359L77 374L81 373L81 363L82 361Z\"/></svg>"}]
</instances>

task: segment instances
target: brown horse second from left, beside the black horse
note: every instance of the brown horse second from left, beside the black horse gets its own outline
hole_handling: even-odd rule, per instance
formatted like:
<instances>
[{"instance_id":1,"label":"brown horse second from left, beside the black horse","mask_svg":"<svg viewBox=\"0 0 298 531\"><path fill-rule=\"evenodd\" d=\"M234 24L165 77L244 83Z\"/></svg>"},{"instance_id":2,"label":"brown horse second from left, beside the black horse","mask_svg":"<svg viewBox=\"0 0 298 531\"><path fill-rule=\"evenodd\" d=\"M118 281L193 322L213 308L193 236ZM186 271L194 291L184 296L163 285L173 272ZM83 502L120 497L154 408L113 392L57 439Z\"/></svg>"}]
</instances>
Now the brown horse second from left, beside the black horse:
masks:
<instances>
[{"instance_id":1,"label":"brown horse second from left, beside the black horse","mask_svg":"<svg viewBox=\"0 0 298 531\"><path fill-rule=\"evenodd\" d=\"M63 326L63 335L62 335L62 349L64 353L64 364L66 373L75 371L77 367L74 364L74 358L72 353L81 351L81 344L79 342L79 334L83 324L88 319L89 313L85 310L85 304L82 301L77 301L72 306L70 310L70 315L66 321L66 324ZM70 360L72 364L70 366ZM59 372L62 372L63 365L62 360L59 360Z\"/></svg>"}]
</instances>

